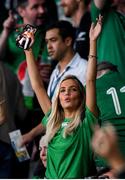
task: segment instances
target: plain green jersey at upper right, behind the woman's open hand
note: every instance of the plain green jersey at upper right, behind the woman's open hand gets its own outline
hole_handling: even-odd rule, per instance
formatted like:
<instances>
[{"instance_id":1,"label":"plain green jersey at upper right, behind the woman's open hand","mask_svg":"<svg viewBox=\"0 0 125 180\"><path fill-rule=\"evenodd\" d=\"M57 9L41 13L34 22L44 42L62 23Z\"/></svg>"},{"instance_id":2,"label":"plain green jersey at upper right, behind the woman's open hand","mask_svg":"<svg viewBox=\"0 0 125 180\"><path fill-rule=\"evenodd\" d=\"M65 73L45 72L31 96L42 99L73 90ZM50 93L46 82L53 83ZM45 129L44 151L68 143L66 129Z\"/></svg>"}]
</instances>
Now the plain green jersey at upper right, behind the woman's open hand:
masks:
<instances>
[{"instance_id":1,"label":"plain green jersey at upper right, behind the woman's open hand","mask_svg":"<svg viewBox=\"0 0 125 180\"><path fill-rule=\"evenodd\" d=\"M94 2L91 5L92 21L101 13L103 15L102 32L97 41L98 61L108 61L118 66L118 70L125 78L125 17L109 6L109 1L102 10Z\"/></svg>"}]
</instances>

